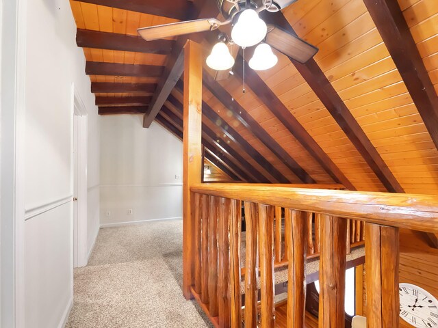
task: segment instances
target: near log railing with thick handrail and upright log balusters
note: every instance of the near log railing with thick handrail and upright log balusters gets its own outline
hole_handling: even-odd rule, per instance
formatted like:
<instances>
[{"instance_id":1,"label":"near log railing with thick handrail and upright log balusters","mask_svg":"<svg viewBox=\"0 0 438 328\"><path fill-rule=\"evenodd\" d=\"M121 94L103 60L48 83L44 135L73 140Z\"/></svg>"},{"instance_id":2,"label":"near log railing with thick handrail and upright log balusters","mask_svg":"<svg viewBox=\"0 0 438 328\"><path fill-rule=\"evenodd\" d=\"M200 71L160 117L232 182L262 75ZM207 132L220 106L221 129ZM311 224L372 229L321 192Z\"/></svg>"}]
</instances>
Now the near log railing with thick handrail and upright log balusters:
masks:
<instances>
[{"instance_id":1,"label":"near log railing with thick handrail and upright log balusters","mask_svg":"<svg viewBox=\"0 0 438 328\"><path fill-rule=\"evenodd\" d=\"M368 327L398 327L398 229L438 232L438 197L432 195L259 184L195 184L190 190L196 230L191 291L216 327L273 328L274 268L283 262L287 327L304 327L305 265L316 254L319 325L344 327L346 254L364 235Z\"/></svg>"}]
</instances>

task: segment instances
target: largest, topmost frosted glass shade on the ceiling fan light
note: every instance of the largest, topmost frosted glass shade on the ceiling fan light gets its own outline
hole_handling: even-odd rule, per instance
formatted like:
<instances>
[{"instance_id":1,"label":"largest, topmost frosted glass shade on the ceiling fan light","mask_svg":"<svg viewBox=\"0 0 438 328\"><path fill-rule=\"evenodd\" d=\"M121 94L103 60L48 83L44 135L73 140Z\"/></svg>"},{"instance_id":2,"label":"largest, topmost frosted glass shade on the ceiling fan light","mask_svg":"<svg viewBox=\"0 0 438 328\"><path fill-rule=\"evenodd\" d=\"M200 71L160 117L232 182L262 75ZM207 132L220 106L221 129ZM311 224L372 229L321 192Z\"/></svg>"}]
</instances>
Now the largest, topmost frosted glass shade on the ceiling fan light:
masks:
<instances>
[{"instance_id":1,"label":"largest, topmost frosted glass shade on the ceiling fan light","mask_svg":"<svg viewBox=\"0 0 438 328\"><path fill-rule=\"evenodd\" d=\"M254 46L266 36L268 27L253 9L247 9L240 14L239 20L231 30L231 38L238 46Z\"/></svg>"}]
</instances>

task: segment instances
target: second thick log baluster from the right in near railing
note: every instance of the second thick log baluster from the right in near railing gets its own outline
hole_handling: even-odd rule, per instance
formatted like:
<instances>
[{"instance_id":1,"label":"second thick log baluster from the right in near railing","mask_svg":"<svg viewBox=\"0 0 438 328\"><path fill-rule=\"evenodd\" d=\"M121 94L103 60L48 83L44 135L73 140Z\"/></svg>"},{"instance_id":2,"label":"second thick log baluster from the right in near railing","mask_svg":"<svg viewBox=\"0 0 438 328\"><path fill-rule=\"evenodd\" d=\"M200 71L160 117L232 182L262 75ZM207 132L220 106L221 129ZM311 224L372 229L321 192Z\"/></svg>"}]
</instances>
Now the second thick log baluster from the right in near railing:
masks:
<instances>
[{"instance_id":1,"label":"second thick log baluster from the right in near railing","mask_svg":"<svg viewBox=\"0 0 438 328\"><path fill-rule=\"evenodd\" d=\"M347 220L320 216L320 328L345 327Z\"/></svg>"}]
</instances>

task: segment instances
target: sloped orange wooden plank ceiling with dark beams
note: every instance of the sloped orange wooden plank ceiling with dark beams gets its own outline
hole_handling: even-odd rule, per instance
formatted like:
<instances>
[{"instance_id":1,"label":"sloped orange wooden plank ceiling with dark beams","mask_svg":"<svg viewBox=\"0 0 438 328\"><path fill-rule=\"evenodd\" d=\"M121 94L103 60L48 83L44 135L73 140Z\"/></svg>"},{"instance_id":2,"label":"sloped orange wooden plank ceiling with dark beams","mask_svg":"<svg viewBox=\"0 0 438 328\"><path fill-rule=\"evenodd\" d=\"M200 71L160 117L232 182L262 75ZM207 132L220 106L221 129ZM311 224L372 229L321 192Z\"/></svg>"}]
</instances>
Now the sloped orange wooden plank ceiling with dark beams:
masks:
<instances>
[{"instance_id":1,"label":"sloped orange wooden plank ceiling with dark beams","mask_svg":"<svg viewBox=\"0 0 438 328\"><path fill-rule=\"evenodd\" d=\"M70 1L99 113L148 113L152 101L155 121L182 137L183 83L170 69L183 40L148 43L136 30L211 16L209 2ZM246 67L246 93L242 57L224 81L206 68L209 165L248 182L438 194L438 1L391 2L298 0L266 15L320 51L305 65L276 52L274 68ZM208 53L211 37L198 42ZM163 86L169 76L173 90Z\"/></svg>"}]
</instances>

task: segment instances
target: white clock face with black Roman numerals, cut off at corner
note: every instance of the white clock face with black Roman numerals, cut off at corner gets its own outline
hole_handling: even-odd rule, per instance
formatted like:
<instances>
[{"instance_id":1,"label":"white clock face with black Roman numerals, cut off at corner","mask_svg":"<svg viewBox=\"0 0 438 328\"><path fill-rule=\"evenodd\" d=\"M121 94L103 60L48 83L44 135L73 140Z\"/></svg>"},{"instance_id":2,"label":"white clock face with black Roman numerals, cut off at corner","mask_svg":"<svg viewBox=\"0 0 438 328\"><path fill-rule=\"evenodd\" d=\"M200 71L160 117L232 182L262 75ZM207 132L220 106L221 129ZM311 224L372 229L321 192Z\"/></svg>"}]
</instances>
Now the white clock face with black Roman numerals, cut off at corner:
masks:
<instances>
[{"instance_id":1,"label":"white clock face with black Roman numerals, cut off at corner","mask_svg":"<svg viewBox=\"0 0 438 328\"><path fill-rule=\"evenodd\" d=\"M400 284L400 318L418 328L438 328L438 301L413 284Z\"/></svg>"}]
</instances>

